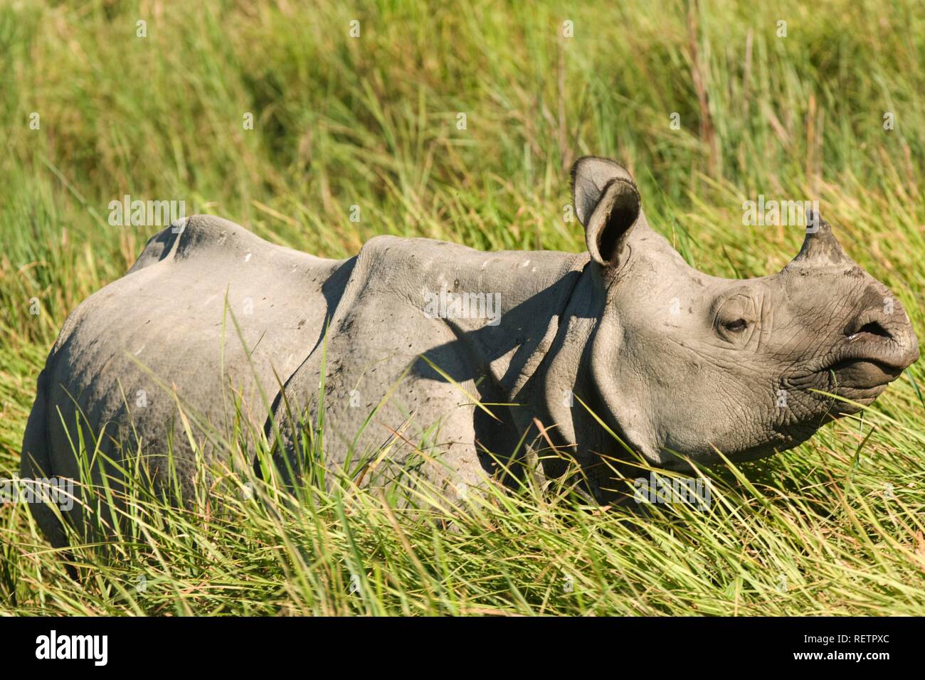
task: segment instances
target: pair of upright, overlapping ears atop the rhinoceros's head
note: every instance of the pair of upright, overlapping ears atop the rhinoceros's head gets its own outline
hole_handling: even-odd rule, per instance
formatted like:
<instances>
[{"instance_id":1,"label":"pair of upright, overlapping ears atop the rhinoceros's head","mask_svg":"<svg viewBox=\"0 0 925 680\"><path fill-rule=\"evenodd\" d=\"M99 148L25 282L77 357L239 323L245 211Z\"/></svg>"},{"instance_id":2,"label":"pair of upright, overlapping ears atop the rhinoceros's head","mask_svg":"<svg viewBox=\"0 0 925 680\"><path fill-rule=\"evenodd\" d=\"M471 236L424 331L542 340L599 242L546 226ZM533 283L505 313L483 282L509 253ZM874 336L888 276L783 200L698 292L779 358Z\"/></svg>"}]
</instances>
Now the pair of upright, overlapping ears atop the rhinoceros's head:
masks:
<instances>
[{"instance_id":1,"label":"pair of upright, overlapping ears atop the rhinoceros's head","mask_svg":"<svg viewBox=\"0 0 925 680\"><path fill-rule=\"evenodd\" d=\"M619 264L641 211L633 177L606 158L579 158L572 168L572 197L591 259L601 266Z\"/></svg>"}]
</instances>

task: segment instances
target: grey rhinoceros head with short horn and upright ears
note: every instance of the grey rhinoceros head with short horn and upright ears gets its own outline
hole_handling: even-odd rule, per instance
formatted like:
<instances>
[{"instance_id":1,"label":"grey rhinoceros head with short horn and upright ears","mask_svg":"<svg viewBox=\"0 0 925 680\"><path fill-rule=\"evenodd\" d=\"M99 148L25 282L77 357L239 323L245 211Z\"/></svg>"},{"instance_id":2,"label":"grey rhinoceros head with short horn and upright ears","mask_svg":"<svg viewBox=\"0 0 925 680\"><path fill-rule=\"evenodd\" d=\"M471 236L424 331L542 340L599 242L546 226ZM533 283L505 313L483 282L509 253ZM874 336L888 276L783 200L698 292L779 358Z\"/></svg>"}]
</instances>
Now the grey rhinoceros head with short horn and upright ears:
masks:
<instances>
[{"instance_id":1,"label":"grey rhinoceros head with short horn and upright ears","mask_svg":"<svg viewBox=\"0 0 925 680\"><path fill-rule=\"evenodd\" d=\"M873 402L919 357L902 304L815 213L781 272L738 280L688 266L648 227L635 181L611 161L579 160L573 198L603 301L587 376L652 464L794 447Z\"/></svg>"}]
</instances>

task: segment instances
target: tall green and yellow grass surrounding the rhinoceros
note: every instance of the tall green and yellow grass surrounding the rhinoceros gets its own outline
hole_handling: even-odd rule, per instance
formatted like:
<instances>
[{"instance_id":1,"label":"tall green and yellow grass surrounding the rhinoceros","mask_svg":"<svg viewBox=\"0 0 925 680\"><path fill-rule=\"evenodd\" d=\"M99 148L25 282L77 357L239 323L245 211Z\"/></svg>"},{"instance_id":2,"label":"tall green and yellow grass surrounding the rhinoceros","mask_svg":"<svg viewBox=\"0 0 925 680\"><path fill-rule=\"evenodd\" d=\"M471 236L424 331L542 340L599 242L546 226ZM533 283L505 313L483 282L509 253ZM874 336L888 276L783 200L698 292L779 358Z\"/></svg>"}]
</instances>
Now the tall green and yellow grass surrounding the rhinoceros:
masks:
<instances>
[{"instance_id":1,"label":"tall green and yellow grass surrounding the rhinoceros","mask_svg":"<svg viewBox=\"0 0 925 680\"><path fill-rule=\"evenodd\" d=\"M798 250L801 229L744 227L744 201L818 199L925 338L922 64L918 0L0 0L0 476L65 317L156 230L108 224L124 194L328 257L382 233L577 252L567 168L607 155L711 275ZM708 512L258 485L140 499L73 580L6 504L0 612L923 614L920 389L922 362L862 417L709 473Z\"/></svg>"}]
</instances>

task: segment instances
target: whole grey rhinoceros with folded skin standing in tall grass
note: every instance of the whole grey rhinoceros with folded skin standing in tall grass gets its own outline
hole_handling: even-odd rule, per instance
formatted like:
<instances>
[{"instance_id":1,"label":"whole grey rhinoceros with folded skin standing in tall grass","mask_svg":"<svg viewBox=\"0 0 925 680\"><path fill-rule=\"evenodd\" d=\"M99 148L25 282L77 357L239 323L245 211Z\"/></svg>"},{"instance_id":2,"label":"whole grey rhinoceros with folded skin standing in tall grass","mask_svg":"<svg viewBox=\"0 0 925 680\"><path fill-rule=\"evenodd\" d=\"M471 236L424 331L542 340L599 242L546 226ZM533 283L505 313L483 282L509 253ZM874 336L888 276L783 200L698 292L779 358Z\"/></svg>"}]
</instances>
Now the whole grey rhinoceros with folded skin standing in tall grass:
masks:
<instances>
[{"instance_id":1,"label":"whole grey rhinoceros with folded skin standing in tall grass","mask_svg":"<svg viewBox=\"0 0 925 680\"><path fill-rule=\"evenodd\" d=\"M165 229L68 317L39 377L22 476L77 476L62 425L73 429L76 400L105 432L107 455L130 462L141 439L156 481L169 442L191 488L196 466L173 391L222 429L233 387L253 424L272 402L274 472L290 480L302 474L299 442L317 420L324 377L328 471L362 484L413 472L438 487L477 486L497 460L548 447L538 421L580 465L586 490L608 501L613 472L601 462L627 453L581 402L651 464L715 464L716 450L744 461L857 411L813 389L867 405L919 356L902 305L821 220L783 271L734 280L687 266L649 229L634 180L611 161L575 164L573 203L587 253L380 236L331 261L211 216ZM497 293L498 325L425 315L425 295L441 287ZM230 318L223 327L226 291L250 360ZM208 443L204 451L215 455ZM556 457L540 465L562 472ZM33 512L63 544L54 517Z\"/></svg>"}]
</instances>

